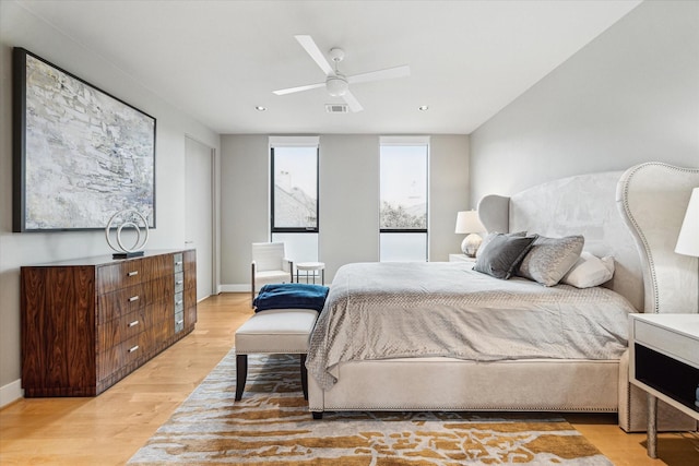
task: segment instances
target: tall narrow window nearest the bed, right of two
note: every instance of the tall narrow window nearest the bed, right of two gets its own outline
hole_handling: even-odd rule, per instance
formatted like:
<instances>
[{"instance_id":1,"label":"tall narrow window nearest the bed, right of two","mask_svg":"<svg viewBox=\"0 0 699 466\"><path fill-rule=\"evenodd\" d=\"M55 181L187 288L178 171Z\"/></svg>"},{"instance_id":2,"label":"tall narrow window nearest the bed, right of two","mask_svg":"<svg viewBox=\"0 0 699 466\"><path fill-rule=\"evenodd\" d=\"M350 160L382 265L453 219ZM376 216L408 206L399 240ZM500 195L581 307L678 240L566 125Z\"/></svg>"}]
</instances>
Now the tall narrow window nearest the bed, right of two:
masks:
<instances>
[{"instance_id":1,"label":"tall narrow window nearest the bed, right of two","mask_svg":"<svg viewBox=\"0 0 699 466\"><path fill-rule=\"evenodd\" d=\"M427 138L381 138L379 256L427 261Z\"/></svg>"}]
</instances>

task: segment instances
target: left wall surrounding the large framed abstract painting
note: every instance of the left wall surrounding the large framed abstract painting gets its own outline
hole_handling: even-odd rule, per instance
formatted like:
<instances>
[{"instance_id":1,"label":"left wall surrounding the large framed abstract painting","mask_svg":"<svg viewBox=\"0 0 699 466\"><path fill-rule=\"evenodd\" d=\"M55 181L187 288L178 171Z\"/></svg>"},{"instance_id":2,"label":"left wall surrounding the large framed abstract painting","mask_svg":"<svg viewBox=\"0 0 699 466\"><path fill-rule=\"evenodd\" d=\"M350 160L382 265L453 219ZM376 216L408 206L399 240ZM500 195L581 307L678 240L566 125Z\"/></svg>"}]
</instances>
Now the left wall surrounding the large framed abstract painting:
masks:
<instances>
[{"instance_id":1,"label":"left wall surrounding the large framed abstract painting","mask_svg":"<svg viewBox=\"0 0 699 466\"><path fill-rule=\"evenodd\" d=\"M21 395L20 266L110 252L104 231L11 232L11 57L15 46L26 48L156 118L157 228L151 232L147 249L185 247L185 134L220 152L216 133L16 3L0 2L0 406Z\"/></svg>"}]
</instances>

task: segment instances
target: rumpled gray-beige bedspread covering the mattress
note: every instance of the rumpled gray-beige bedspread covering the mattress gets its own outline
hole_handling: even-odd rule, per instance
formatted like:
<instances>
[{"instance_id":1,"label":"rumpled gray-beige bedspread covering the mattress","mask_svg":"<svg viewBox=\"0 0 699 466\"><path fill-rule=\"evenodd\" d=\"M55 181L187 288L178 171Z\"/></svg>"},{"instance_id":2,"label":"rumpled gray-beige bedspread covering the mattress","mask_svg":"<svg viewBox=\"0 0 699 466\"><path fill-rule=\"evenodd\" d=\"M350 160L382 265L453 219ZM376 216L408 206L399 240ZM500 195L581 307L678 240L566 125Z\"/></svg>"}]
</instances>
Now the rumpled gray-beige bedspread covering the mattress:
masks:
<instances>
[{"instance_id":1,"label":"rumpled gray-beige bedspread covering the mattress","mask_svg":"<svg viewBox=\"0 0 699 466\"><path fill-rule=\"evenodd\" d=\"M501 280L465 263L348 264L332 282L306 366L327 390L351 360L619 359L629 312L606 288Z\"/></svg>"}]
</instances>

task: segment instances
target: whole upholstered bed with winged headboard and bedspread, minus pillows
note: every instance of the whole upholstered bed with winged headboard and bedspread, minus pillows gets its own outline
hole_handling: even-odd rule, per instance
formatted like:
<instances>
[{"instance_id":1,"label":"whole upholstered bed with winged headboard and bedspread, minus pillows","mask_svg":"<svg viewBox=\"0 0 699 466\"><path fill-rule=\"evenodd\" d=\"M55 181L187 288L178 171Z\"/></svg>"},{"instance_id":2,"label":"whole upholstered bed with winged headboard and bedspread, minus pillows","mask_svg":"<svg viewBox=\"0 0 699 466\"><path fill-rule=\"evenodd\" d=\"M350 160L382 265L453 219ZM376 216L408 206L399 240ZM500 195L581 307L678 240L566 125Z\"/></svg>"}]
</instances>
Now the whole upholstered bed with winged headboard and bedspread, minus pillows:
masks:
<instances>
[{"instance_id":1,"label":"whole upholstered bed with winged headboard and bedspread, minus pillows","mask_svg":"<svg viewBox=\"0 0 699 466\"><path fill-rule=\"evenodd\" d=\"M498 280L463 263L341 267L310 337L310 411L316 418L342 410L600 411L618 413L627 431L643 430L643 398L628 383L626 319L635 311L676 312L668 300L677 299L677 284L697 289L697 259L677 258L667 240L676 238L696 186L698 169L649 163L481 201L488 231L582 235L587 253L614 258L614 276L603 287ZM496 282L509 288L493 288ZM485 289L485 297L472 287ZM557 306L569 295L582 302L576 311ZM533 309L522 311L512 300L533 302ZM699 309L696 294L683 294L682 300L680 309ZM475 313L466 318L469 309ZM536 309L545 309L545 318ZM569 325L573 321L579 322ZM467 337L450 333L469 324ZM523 327L536 332L522 333ZM566 332L569 338L560 339ZM420 333L438 336L425 340ZM477 337L484 333L490 338ZM602 345L587 353L595 340ZM696 428L667 407L660 410L661 429Z\"/></svg>"}]
</instances>

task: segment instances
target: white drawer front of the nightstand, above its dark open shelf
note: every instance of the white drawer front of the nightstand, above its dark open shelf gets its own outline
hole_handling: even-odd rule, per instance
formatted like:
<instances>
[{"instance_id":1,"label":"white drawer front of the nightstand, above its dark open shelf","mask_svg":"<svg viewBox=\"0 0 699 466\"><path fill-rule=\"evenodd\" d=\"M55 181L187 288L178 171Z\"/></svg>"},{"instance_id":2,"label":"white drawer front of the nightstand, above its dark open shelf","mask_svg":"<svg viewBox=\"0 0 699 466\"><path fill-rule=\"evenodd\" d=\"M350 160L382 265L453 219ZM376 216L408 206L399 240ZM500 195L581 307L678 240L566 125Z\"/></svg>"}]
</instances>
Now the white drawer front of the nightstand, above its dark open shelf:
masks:
<instances>
[{"instance_id":1,"label":"white drawer front of the nightstand, above its dark open shelf","mask_svg":"<svg viewBox=\"0 0 699 466\"><path fill-rule=\"evenodd\" d=\"M638 344L699 368L697 340L687 335L645 321L633 320L633 338Z\"/></svg>"}]
</instances>

